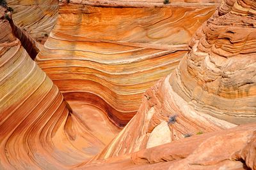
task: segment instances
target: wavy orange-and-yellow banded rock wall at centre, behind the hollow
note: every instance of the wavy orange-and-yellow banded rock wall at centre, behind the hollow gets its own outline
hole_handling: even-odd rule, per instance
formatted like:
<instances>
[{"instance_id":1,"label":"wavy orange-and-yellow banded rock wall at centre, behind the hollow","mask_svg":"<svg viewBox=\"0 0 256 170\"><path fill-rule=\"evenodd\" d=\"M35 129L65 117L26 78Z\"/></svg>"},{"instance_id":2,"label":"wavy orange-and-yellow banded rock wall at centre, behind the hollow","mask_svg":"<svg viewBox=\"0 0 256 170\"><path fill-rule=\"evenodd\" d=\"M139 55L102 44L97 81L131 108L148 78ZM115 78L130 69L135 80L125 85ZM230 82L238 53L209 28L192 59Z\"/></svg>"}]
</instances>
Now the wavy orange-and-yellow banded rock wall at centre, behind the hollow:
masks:
<instances>
[{"instance_id":1,"label":"wavy orange-and-yellow banded rock wall at centre, behind the hollow","mask_svg":"<svg viewBox=\"0 0 256 170\"><path fill-rule=\"evenodd\" d=\"M122 127L138 111L143 92L175 69L215 4L116 8L86 2L60 3L36 62L68 102L96 106Z\"/></svg>"}]
</instances>

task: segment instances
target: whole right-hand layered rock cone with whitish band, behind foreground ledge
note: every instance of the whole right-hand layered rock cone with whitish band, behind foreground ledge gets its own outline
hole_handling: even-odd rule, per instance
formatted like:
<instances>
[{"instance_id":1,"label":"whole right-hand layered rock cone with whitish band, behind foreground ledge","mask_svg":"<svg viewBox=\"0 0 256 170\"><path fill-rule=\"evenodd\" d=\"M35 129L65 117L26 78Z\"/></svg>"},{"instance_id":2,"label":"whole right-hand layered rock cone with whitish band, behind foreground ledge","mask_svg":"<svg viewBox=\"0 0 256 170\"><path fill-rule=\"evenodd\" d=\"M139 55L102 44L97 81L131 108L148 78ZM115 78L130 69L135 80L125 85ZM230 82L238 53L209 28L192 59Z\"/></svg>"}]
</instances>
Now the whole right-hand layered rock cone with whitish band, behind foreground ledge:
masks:
<instances>
[{"instance_id":1,"label":"whole right-hand layered rock cone with whitish band, behind foreground ledge","mask_svg":"<svg viewBox=\"0 0 256 170\"><path fill-rule=\"evenodd\" d=\"M164 121L169 142L256 122L254 9L255 1L223 1L193 36L179 67L145 93L136 116L95 159L161 145L166 137L152 136Z\"/></svg>"}]
</instances>

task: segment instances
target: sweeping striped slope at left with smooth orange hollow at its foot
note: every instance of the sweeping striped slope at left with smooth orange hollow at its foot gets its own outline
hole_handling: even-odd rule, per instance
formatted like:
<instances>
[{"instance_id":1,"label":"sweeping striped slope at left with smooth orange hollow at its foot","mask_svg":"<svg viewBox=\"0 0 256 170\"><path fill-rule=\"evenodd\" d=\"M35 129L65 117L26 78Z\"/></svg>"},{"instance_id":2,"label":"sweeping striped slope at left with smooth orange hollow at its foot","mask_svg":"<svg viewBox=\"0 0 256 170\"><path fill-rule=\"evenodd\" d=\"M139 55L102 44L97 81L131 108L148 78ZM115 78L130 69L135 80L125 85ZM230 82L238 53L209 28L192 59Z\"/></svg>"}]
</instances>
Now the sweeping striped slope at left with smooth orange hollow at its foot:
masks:
<instances>
[{"instance_id":1,"label":"sweeping striped slope at left with smooth orange hollow at its foot","mask_svg":"<svg viewBox=\"0 0 256 170\"><path fill-rule=\"evenodd\" d=\"M100 122L97 130L72 111L14 36L5 15L0 6L0 169L72 169L119 130L105 123L100 111L89 119Z\"/></svg>"}]
</instances>

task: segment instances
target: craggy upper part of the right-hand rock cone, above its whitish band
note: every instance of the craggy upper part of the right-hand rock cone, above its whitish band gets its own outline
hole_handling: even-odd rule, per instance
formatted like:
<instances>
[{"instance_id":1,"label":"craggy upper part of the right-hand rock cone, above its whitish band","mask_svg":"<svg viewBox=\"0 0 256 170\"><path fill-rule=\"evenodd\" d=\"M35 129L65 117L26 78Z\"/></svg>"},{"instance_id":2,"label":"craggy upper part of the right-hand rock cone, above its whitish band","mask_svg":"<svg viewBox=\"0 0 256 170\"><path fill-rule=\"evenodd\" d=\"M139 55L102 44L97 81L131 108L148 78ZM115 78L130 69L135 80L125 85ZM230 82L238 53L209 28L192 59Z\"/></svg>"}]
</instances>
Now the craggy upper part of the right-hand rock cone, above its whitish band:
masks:
<instances>
[{"instance_id":1,"label":"craggy upper part of the right-hand rock cone, above its whitish band","mask_svg":"<svg viewBox=\"0 0 256 170\"><path fill-rule=\"evenodd\" d=\"M254 1L221 3L170 78L196 111L237 125L256 121L254 8Z\"/></svg>"}]
</instances>

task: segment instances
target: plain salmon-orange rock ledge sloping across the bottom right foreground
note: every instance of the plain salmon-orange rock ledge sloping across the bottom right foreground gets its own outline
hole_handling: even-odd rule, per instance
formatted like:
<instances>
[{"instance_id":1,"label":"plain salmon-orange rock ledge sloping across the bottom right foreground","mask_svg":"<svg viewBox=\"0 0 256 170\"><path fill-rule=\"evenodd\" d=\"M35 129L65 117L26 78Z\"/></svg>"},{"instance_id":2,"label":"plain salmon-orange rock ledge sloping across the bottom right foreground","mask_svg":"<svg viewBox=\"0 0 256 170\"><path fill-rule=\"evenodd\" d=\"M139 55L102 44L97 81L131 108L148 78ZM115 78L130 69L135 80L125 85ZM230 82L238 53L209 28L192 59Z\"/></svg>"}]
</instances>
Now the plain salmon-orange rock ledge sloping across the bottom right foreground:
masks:
<instances>
[{"instance_id":1,"label":"plain salmon-orange rock ledge sloping across the bottom right foreground","mask_svg":"<svg viewBox=\"0 0 256 170\"><path fill-rule=\"evenodd\" d=\"M256 169L255 129L255 123L239 125L76 169Z\"/></svg>"}]
</instances>

